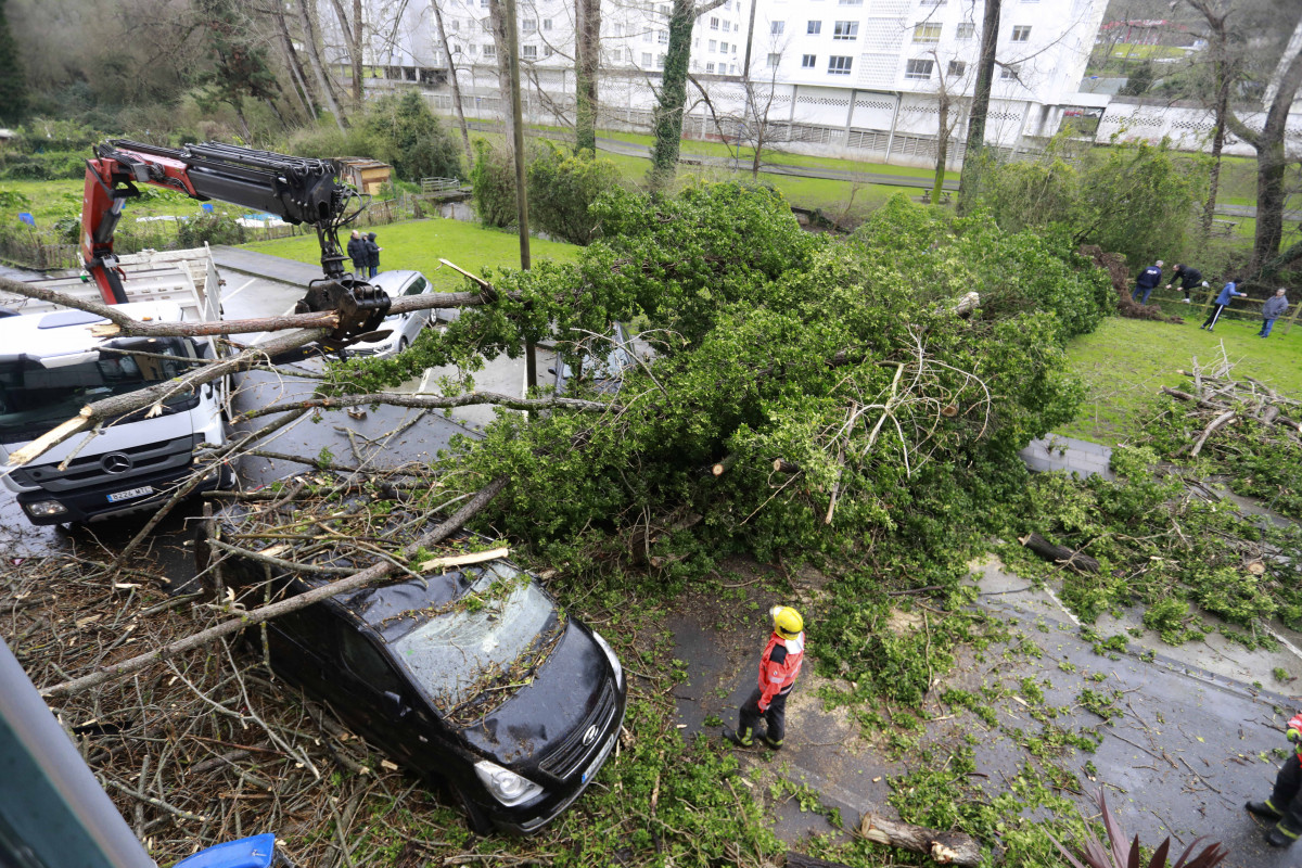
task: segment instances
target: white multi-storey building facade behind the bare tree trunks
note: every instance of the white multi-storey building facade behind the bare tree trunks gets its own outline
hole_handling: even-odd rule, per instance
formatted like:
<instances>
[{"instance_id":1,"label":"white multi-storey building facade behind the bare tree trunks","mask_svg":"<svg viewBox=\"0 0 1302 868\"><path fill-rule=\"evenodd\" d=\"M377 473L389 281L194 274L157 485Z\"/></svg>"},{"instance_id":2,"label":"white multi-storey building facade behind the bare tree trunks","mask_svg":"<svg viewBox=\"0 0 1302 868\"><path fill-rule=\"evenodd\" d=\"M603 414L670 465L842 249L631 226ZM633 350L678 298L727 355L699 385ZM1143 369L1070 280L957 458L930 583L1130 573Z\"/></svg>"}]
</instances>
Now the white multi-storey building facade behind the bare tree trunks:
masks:
<instances>
[{"instance_id":1,"label":"white multi-storey building facade behind the bare tree trunks","mask_svg":"<svg viewBox=\"0 0 1302 868\"><path fill-rule=\"evenodd\" d=\"M448 55L430 0L366 0L367 85L422 86L437 111L450 113L454 70L467 117L503 117L488 0L439 3ZM1004 0L988 142L1031 147L1065 117L1101 115L1105 98L1078 91L1105 7L1107 0ZM323 1L318 9L327 62L346 66L333 7ZM650 129L669 12L668 3L603 1L600 126ZM766 138L785 150L928 165L944 92L957 161L983 12L980 0L725 0L693 31L684 135L729 135L747 116L754 124L762 104L772 128ZM573 0L519 0L517 16L526 122L572 124Z\"/></svg>"}]
</instances>

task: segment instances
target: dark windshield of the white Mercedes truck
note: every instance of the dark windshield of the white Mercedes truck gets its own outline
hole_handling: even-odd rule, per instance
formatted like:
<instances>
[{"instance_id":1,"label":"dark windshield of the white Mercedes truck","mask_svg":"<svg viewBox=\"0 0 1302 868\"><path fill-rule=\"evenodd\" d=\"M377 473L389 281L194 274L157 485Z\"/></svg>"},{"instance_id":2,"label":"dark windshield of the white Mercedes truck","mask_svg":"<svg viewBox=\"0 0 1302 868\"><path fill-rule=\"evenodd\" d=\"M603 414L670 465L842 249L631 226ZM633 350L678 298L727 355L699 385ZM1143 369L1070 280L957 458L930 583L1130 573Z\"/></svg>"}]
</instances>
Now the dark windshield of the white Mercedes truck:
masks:
<instances>
[{"instance_id":1,"label":"dark windshield of the white Mercedes truck","mask_svg":"<svg viewBox=\"0 0 1302 868\"><path fill-rule=\"evenodd\" d=\"M94 401L143 389L181 376L191 366L193 346L177 337L124 338L86 353L72 364L31 357L0 358L0 436L7 442L36 437L76 416ZM164 407L184 410L193 392L174 394Z\"/></svg>"}]
</instances>

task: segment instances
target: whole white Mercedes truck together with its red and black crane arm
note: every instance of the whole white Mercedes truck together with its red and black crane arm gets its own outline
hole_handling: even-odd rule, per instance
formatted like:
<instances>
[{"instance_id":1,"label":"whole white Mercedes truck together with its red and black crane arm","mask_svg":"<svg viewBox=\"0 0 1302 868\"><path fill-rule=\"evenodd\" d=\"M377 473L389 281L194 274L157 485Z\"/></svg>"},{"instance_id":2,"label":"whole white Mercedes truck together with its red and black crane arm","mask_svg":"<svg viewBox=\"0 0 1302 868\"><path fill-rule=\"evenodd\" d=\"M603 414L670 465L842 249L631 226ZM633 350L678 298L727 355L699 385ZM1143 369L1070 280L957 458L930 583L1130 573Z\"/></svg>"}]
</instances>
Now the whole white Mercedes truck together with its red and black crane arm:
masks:
<instances>
[{"instance_id":1,"label":"whole white Mercedes truck together with its red and black crane arm","mask_svg":"<svg viewBox=\"0 0 1302 868\"><path fill-rule=\"evenodd\" d=\"M316 229L322 278L297 310L339 311L327 347L374 337L388 295L344 268L339 229L361 211L335 160L305 159L207 142L165 148L113 139L86 161L81 255L85 273L48 284L73 297L96 293L138 320L176 323L221 316L220 280L207 250L194 255L117 256L113 232L137 185L258 208ZM357 207L354 207L357 203ZM100 337L105 320L26 297L0 298L0 466L82 406L184 375L223 353L211 338ZM5 315L8 314L8 315ZM35 462L4 467L0 480L34 524L87 522L156 508L191 472L195 491L229 485L228 465L199 466L225 442L228 384L169 397L160 407L111 419Z\"/></svg>"}]
</instances>

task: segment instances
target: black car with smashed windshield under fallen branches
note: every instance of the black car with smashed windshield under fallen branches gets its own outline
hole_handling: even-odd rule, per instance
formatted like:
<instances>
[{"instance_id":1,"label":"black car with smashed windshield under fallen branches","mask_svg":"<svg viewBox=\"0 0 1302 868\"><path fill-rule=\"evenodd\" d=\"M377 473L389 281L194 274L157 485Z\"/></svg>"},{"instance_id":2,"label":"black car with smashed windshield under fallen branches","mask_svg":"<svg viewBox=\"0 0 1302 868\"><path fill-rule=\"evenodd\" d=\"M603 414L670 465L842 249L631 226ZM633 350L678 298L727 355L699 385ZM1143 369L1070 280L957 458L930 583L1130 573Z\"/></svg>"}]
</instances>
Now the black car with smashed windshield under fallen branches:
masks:
<instances>
[{"instance_id":1,"label":"black car with smashed windshield under fallen branches","mask_svg":"<svg viewBox=\"0 0 1302 868\"><path fill-rule=\"evenodd\" d=\"M221 582L253 590L255 605L264 570L236 556L223 561ZM301 593L328 576L272 580ZM268 622L267 645L277 674L445 783L480 834L529 834L561 813L624 721L611 645L505 560L341 593Z\"/></svg>"}]
</instances>

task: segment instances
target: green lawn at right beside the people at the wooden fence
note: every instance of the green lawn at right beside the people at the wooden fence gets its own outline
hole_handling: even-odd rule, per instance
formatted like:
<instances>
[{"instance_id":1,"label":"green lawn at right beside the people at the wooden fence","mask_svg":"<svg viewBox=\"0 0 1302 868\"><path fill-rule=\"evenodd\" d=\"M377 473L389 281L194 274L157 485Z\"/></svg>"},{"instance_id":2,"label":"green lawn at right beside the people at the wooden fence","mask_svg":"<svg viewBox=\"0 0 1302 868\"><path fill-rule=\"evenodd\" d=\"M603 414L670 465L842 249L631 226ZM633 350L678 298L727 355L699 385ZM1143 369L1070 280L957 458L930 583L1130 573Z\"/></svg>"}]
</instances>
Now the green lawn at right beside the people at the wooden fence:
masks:
<instances>
[{"instance_id":1,"label":"green lawn at right beside the people at the wooden fence","mask_svg":"<svg viewBox=\"0 0 1302 868\"><path fill-rule=\"evenodd\" d=\"M1258 318L1221 319L1215 334L1199 329L1202 321L1198 307L1184 325L1112 316L1092 334L1072 341L1068 355L1088 394L1079 416L1056 433L1107 445L1124 441L1152 411L1152 398L1161 387L1187 388L1189 377L1178 371L1191 370L1195 358L1199 366L1210 367L1220 359L1221 346L1236 376L1302 397L1302 324L1285 333L1286 323L1276 321L1263 341L1255 337L1262 323Z\"/></svg>"}]
</instances>

